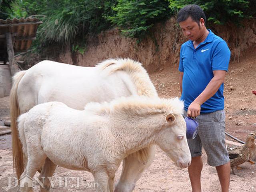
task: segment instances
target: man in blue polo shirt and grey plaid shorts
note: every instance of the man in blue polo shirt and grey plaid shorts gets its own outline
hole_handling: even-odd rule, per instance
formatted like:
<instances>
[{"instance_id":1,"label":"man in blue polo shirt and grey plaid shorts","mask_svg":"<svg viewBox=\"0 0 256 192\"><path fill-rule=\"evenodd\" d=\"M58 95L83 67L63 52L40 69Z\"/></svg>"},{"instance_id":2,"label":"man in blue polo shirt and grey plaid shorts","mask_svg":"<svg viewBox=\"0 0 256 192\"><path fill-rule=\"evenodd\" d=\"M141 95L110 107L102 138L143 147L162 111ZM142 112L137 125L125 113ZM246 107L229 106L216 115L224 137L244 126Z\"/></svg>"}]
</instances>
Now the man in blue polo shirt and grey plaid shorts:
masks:
<instances>
[{"instance_id":1,"label":"man in blue polo shirt and grey plaid shorts","mask_svg":"<svg viewBox=\"0 0 256 192\"><path fill-rule=\"evenodd\" d=\"M218 172L222 192L228 192L230 162L225 148L225 112L223 82L230 50L226 42L205 26L206 16L197 5L188 5L178 12L177 22L189 40L180 50L180 91L185 110L197 117L198 135L188 140L192 155L188 173L192 192L201 192L202 146L208 164Z\"/></svg>"}]
</instances>

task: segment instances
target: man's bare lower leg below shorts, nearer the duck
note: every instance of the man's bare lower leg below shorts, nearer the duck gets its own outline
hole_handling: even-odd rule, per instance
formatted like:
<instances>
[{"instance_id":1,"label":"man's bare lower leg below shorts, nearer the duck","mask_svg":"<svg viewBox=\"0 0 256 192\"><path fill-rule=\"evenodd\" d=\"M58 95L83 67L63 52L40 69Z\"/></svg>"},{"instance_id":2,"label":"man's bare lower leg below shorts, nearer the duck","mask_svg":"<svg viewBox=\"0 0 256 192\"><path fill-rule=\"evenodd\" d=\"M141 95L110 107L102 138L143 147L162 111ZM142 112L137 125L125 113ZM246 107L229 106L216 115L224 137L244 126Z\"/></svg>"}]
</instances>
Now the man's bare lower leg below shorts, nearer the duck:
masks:
<instances>
[{"instance_id":1,"label":"man's bare lower leg below shorts, nearer the duck","mask_svg":"<svg viewBox=\"0 0 256 192\"><path fill-rule=\"evenodd\" d=\"M228 192L230 182L230 162L217 166L216 170L220 180L221 192Z\"/></svg>"}]
</instances>

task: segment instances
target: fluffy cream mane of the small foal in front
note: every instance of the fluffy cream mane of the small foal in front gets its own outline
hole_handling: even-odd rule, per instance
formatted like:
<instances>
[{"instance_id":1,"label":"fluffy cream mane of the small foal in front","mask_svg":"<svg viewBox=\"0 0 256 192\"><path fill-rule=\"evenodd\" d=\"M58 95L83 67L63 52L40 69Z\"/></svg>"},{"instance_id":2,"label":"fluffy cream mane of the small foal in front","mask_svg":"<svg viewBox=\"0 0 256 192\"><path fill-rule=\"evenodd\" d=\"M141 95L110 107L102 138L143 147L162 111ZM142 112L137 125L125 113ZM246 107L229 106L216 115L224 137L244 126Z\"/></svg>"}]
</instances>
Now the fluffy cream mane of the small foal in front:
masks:
<instances>
[{"instance_id":1,"label":"fluffy cream mane of the small foal in front","mask_svg":"<svg viewBox=\"0 0 256 192\"><path fill-rule=\"evenodd\" d=\"M154 114L183 114L184 104L177 97L171 99L145 96L121 97L111 102L88 103L84 110L97 115L143 117Z\"/></svg>"}]
</instances>

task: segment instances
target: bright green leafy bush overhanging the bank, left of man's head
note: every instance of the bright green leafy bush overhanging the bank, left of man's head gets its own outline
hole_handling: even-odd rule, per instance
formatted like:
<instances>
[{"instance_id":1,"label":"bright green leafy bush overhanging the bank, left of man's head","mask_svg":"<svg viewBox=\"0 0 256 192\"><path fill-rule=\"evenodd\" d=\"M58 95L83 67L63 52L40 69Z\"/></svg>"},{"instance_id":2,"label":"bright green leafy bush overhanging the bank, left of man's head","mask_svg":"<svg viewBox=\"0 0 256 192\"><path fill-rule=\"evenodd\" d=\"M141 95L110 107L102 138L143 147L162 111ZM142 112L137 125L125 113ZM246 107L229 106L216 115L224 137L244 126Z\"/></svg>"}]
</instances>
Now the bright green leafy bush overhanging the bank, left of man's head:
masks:
<instances>
[{"instance_id":1,"label":"bright green leafy bush overhanging the bank, left of man's head","mask_svg":"<svg viewBox=\"0 0 256 192\"><path fill-rule=\"evenodd\" d=\"M156 22L170 18L167 0L118 0L116 12L108 19L130 38L142 39Z\"/></svg>"}]
</instances>

